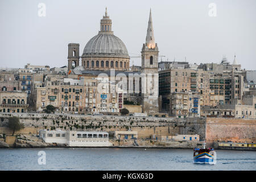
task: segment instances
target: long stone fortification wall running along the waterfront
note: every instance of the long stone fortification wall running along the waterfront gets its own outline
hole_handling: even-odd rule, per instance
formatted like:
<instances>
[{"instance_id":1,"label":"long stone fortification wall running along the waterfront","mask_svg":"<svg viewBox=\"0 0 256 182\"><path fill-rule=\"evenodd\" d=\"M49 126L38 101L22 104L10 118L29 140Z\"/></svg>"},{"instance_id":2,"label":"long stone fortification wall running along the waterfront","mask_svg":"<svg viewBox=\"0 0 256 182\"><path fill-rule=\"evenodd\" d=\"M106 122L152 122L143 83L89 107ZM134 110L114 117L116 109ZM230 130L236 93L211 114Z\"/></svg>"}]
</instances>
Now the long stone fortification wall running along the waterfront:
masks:
<instances>
[{"instance_id":1,"label":"long stone fortification wall running along the waterfront","mask_svg":"<svg viewBox=\"0 0 256 182\"><path fill-rule=\"evenodd\" d=\"M256 142L255 119L229 118L156 118L111 115L72 115L72 114L36 114L36 113L0 113L1 127L6 127L8 118L16 116L24 123L24 131L16 134L35 134L40 129L77 130L77 131L138 131L138 139L148 139L151 135L194 135L207 142L217 140L236 140L237 142Z\"/></svg>"}]
</instances>

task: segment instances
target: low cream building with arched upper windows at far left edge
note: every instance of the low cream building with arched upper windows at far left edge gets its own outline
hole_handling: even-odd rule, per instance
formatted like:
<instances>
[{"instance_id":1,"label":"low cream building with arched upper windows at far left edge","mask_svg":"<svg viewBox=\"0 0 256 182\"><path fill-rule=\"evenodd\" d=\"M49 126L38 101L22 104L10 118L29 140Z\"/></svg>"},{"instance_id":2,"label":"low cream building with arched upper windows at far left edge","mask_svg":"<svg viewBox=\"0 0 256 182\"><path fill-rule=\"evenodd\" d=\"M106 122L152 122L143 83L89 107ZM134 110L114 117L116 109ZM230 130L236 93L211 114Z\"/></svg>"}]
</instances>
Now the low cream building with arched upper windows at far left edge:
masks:
<instances>
[{"instance_id":1,"label":"low cream building with arched upper windows at far left edge","mask_svg":"<svg viewBox=\"0 0 256 182\"><path fill-rule=\"evenodd\" d=\"M0 112L25 113L27 112L27 94L22 91L1 91Z\"/></svg>"}]
</instances>

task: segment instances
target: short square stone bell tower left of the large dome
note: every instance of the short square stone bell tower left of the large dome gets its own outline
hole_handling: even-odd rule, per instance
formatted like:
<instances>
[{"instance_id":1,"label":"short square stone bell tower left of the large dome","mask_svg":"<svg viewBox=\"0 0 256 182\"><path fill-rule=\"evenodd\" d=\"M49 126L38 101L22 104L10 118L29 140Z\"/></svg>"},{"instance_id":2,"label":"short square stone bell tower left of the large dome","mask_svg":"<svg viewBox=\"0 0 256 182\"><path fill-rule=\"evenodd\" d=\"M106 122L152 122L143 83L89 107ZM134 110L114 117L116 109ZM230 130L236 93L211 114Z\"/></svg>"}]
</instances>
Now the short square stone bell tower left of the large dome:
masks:
<instances>
[{"instance_id":1,"label":"short square stone bell tower left of the large dome","mask_svg":"<svg viewBox=\"0 0 256 182\"><path fill-rule=\"evenodd\" d=\"M68 70L74 69L79 66L79 44L68 44Z\"/></svg>"}]
</instances>

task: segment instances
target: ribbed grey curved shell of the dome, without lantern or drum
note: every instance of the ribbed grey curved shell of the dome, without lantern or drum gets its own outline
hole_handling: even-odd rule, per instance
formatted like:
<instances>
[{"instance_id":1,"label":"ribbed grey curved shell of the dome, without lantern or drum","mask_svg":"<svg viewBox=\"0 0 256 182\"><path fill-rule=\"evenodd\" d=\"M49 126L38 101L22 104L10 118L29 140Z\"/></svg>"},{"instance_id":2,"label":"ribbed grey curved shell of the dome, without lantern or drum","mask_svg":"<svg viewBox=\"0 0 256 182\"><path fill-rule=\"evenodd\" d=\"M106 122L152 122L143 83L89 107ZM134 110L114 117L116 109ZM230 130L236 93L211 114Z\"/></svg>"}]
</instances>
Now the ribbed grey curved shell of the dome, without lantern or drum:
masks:
<instances>
[{"instance_id":1,"label":"ribbed grey curved shell of the dome, without lantern or drum","mask_svg":"<svg viewBox=\"0 0 256 182\"><path fill-rule=\"evenodd\" d=\"M99 32L86 44L82 57L92 55L129 57L125 44L112 32Z\"/></svg>"}]
</instances>

